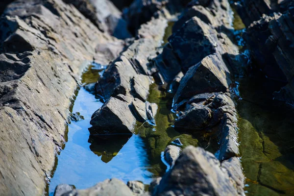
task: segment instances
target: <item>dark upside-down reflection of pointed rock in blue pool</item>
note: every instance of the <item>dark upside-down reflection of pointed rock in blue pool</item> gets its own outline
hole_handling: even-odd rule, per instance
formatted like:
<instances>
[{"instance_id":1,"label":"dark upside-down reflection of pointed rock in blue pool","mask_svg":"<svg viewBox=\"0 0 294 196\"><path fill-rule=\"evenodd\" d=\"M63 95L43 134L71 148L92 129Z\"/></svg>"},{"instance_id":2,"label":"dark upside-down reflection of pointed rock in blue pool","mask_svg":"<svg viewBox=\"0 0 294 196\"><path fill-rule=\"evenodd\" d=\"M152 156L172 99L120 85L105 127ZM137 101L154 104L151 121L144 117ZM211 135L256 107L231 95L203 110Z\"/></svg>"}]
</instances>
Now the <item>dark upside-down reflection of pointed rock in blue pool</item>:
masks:
<instances>
[{"instance_id":1,"label":"dark upside-down reflection of pointed rock in blue pool","mask_svg":"<svg viewBox=\"0 0 294 196\"><path fill-rule=\"evenodd\" d=\"M101 156L101 161L108 163L119 153L131 136L130 134L90 136L88 142L91 144L90 149Z\"/></svg>"}]
</instances>

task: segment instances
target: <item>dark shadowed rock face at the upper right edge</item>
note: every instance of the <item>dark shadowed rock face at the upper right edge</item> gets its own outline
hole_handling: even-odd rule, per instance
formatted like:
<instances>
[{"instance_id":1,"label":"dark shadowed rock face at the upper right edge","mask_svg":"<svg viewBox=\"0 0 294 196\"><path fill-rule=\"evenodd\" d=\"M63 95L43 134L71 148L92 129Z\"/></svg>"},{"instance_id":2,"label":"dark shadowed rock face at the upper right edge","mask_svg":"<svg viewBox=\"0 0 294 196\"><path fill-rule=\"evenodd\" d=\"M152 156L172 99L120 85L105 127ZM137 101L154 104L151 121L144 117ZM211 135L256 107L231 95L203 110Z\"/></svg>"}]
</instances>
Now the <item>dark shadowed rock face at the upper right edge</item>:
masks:
<instances>
[{"instance_id":1,"label":"dark shadowed rock face at the upper right edge","mask_svg":"<svg viewBox=\"0 0 294 196\"><path fill-rule=\"evenodd\" d=\"M294 3L285 14L263 16L252 23L245 39L259 69L267 77L285 81L287 85L274 94L276 100L294 104Z\"/></svg>"}]
</instances>

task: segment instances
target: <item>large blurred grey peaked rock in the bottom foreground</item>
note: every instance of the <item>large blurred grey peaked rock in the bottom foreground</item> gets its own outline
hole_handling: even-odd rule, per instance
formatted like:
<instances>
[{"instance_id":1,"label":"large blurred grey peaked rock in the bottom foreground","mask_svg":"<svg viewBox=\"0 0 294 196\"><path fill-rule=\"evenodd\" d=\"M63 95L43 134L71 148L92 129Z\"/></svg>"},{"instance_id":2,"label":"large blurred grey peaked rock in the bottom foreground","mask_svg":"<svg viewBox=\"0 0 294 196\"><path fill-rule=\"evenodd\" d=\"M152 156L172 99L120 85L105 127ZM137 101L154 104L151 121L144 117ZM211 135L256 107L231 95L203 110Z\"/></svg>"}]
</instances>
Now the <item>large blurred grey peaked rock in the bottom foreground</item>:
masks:
<instances>
[{"instance_id":1,"label":"large blurred grey peaked rock in the bottom foreground","mask_svg":"<svg viewBox=\"0 0 294 196\"><path fill-rule=\"evenodd\" d=\"M238 195L220 162L200 147L186 147L174 167L167 172L154 195Z\"/></svg>"}]
</instances>

